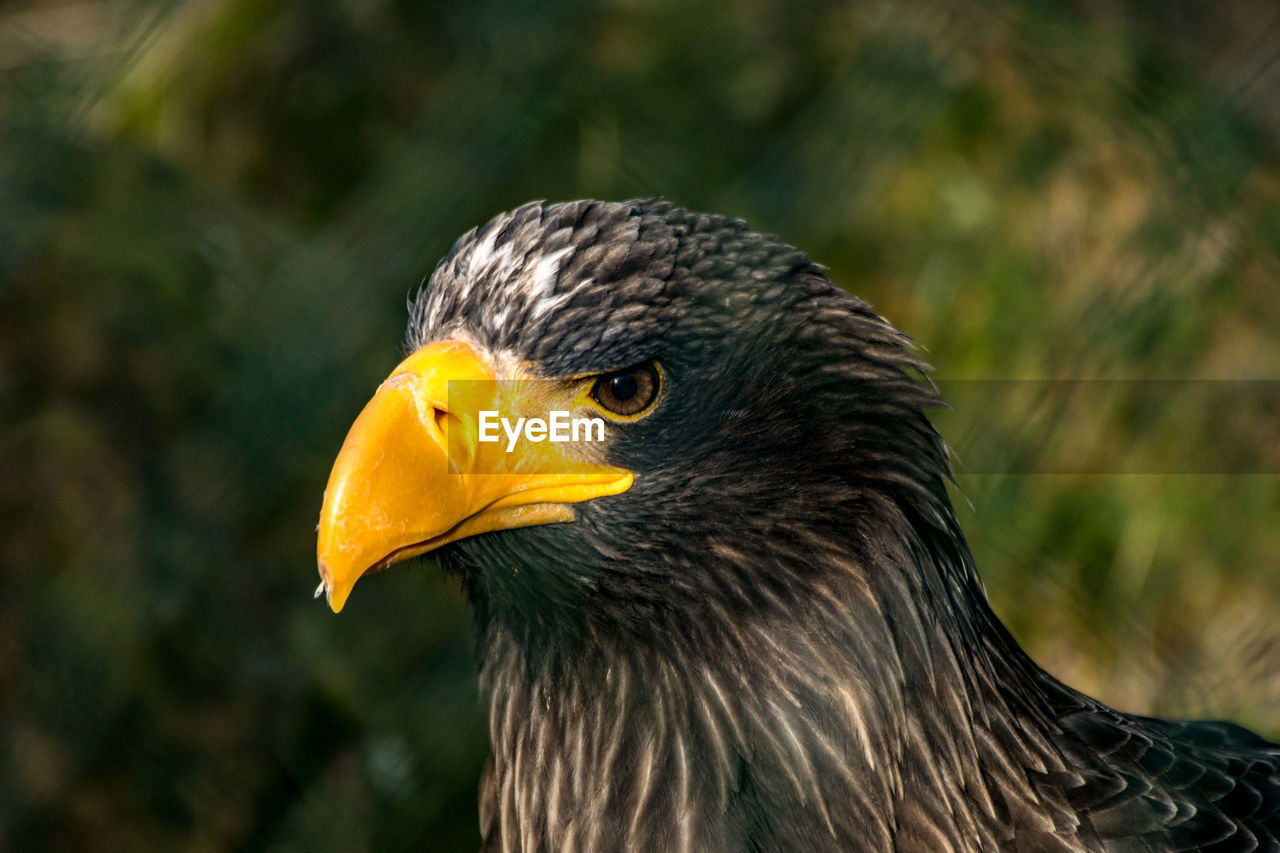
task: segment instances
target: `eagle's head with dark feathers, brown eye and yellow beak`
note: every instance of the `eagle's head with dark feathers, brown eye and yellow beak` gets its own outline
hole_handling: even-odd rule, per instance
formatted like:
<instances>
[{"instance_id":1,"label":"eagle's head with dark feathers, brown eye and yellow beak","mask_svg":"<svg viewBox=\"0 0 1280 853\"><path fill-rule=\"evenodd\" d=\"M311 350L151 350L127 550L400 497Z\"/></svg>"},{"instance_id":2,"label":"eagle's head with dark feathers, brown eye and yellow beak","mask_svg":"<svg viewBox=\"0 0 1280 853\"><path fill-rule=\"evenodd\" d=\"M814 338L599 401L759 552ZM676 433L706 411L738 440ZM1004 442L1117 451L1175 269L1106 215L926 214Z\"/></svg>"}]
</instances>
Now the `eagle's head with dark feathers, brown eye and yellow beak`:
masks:
<instances>
[{"instance_id":1,"label":"eagle's head with dark feathers, brown eye and yellow beak","mask_svg":"<svg viewBox=\"0 0 1280 853\"><path fill-rule=\"evenodd\" d=\"M334 610L439 549L490 616L669 638L794 605L786 555L861 514L950 517L908 338L741 220L529 204L458 240L410 315L325 492Z\"/></svg>"}]
</instances>

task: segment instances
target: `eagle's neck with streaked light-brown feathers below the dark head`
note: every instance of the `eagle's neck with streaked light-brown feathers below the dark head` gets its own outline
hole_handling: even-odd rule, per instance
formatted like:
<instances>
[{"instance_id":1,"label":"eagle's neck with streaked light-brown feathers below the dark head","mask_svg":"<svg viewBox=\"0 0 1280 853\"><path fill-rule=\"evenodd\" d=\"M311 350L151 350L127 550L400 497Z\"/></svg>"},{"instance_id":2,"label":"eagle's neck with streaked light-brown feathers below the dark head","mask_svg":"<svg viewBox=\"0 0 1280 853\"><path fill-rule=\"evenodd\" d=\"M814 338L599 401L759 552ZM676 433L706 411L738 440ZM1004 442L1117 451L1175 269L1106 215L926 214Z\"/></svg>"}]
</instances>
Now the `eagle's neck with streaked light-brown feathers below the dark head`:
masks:
<instances>
[{"instance_id":1,"label":"eagle's neck with streaked light-brown feathers below the dark head","mask_svg":"<svg viewBox=\"0 0 1280 853\"><path fill-rule=\"evenodd\" d=\"M836 553L829 542L815 549L831 565L804 573L823 583L794 606L708 607L663 626L669 642L586 628L573 648L548 649L485 625L486 843L941 850L1027 839L1020 815L1059 797L1051 781L1065 771L1044 731L1057 688L980 589L964 588L977 580L963 540L940 551L918 532L888 533L865 530L867 547L846 542L841 556L822 556ZM870 551L886 540L901 548ZM759 553L721 558L760 566Z\"/></svg>"}]
</instances>

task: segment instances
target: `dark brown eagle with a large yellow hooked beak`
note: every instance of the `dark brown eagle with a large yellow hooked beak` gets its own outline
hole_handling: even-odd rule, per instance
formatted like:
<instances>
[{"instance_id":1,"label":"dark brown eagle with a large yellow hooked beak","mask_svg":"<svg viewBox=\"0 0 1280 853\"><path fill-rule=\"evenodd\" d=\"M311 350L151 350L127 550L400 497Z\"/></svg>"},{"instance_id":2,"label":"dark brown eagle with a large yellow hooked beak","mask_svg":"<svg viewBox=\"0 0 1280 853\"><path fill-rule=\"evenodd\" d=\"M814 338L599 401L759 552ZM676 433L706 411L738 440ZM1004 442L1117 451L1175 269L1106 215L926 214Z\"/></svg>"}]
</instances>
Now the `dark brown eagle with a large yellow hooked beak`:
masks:
<instances>
[{"instance_id":1,"label":"dark brown eagle with a large yellow hooked beak","mask_svg":"<svg viewBox=\"0 0 1280 853\"><path fill-rule=\"evenodd\" d=\"M460 580L483 849L1280 849L1280 747L1114 710L1012 639L928 365L800 250L529 204L408 309L317 594L426 552Z\"/></svg>"}]
</instances>

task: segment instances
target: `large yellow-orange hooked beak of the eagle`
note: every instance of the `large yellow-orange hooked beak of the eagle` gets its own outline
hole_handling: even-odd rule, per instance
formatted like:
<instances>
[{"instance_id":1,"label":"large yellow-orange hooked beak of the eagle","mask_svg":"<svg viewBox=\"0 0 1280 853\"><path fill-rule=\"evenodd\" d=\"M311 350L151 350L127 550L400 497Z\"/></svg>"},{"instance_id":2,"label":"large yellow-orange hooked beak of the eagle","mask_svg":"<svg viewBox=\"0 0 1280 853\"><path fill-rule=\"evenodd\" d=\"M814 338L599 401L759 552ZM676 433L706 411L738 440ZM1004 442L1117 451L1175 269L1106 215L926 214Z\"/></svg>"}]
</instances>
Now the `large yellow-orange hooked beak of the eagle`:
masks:
<instances>
[{"instance_id":1,"label":"large yellow-orange hooked beak of the eagle","mask_svg":"<svg viewBox=\"0 0 1280 853\"><path fill-rule=\"evenodd\" d=\"M545 416L547 400L527 391L538 384L495 377L457 341L425 346L392 371L347 434L324 493L316 557L334 612L370 571L477 533L572 521L568 505L631 488L630 471L575 444L508 450L492 424L480 441L480 411Z\"/></svg>"}]
</instances>

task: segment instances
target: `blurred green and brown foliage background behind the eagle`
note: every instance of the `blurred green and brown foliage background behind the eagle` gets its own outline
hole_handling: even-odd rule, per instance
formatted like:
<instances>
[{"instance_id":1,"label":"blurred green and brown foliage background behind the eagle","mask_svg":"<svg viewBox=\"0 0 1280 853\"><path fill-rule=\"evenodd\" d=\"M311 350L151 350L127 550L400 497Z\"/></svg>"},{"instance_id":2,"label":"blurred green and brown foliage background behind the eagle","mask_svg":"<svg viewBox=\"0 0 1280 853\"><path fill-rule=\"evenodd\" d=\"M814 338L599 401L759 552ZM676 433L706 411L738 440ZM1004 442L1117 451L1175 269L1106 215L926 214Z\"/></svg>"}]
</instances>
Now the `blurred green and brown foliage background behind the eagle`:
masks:
<instances>
[{"instance_id":1,"label":"blurred green and brown foliage background behind the eagle","mask_svg":"<svg viewBox=\"0 0 1280 853\"><path fill-rule=\"evenodd\" d=\"M1280 736L1277 56L1270 0L4 5L0 848L475 849L457 589L333 616L314 532L530 199L808 250L927 347L1036 658Z\"/></svg>"}]
</instances>

